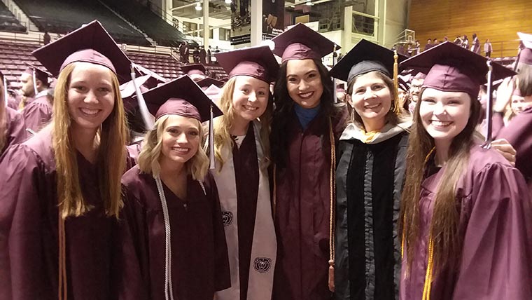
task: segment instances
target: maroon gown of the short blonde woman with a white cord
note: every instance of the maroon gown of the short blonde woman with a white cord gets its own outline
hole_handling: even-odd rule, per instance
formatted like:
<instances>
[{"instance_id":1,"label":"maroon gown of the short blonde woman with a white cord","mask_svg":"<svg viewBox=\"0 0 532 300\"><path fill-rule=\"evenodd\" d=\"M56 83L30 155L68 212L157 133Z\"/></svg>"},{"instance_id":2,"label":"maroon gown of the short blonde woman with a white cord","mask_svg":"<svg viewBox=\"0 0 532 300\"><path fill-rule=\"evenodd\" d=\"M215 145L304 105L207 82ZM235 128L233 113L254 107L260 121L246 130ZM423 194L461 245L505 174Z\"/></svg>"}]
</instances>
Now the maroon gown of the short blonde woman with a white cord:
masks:
<instances>
[{"instance_id":1,"label":"maroon gown of the short blonde woman with a white cord","mask_svg":"<svg viewBox=\"0 0 532 300\"><path fill-rule=\"evenodd\" d=\"M124 218L133 238L139 272L121 299L165 299L165 221L157 185L138 166L122 178ZM229 261L218 191L211 175L200 184L188 178L188 199L178 198L163 183L172 230L172 286L174 299L212 300L214 292L230 287ZM141 286L135 286L141 282Z\"/></svg>"}]
</instances>

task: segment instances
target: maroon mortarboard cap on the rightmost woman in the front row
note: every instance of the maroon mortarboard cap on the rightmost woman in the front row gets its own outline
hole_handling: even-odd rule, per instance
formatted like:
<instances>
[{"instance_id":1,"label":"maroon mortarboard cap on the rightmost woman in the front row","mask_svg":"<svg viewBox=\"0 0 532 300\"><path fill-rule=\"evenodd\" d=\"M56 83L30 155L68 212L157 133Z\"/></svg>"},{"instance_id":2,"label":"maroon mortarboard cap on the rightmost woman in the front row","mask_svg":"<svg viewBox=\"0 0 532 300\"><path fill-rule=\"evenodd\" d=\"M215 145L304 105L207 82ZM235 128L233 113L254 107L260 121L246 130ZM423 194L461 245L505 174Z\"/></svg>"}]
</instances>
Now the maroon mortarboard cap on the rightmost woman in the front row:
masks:
<instances>
[{"instance_id":1,"label":"maroon mortarboard cap on the rightmost woman in the front row","mask_svg":"<svg viewBox=\"0 0 532 300\"><path fill-rule=\"evenodd\" d=\"M486 83L487 58L446 41L402 62L405 67L430 67L423 88L468 93L476 99L480 85ZM492 80L516 73L491 62Z\"/></svg>"}]
</instances>

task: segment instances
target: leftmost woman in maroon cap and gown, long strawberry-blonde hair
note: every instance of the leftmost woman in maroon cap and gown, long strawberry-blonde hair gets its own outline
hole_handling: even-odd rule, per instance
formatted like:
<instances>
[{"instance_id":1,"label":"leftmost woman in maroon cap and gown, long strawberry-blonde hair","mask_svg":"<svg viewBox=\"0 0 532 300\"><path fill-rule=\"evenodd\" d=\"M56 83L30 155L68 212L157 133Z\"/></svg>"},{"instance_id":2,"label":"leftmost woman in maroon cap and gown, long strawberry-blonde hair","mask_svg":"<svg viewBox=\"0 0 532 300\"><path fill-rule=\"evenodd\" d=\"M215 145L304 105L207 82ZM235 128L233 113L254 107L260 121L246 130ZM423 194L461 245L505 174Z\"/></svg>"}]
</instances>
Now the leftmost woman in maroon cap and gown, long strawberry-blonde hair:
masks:
<instances>
[{"instance_id":1,"label":"leftmost woman in maroon cap and gown, long strawberry-blonde hair","mask_svg":"<svg viewBox=\"0 0 532 300\"><path fill-rule=\"evenodd\" d=\"M0 299L112 299L130 61L97 21L34 55L54 120L0 163Z\"/></svg>"}]
</instances>

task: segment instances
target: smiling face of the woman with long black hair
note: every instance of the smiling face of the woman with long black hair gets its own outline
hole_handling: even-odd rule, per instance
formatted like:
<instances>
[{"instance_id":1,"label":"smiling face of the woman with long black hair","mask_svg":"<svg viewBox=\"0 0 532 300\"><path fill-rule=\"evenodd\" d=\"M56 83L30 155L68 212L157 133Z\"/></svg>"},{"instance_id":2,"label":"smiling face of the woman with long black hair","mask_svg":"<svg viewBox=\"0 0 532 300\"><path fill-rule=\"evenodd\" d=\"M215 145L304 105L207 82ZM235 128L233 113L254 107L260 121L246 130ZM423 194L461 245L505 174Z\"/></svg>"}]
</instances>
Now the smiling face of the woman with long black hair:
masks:
<instances>
[{"instance_id":1,"label":"smiling face of the woman with long black hair","mask_svg":"<svg viewBox=\"0 0 532 300\"><path fill-rule=\"evenodd\" d=\"M323 84L313 60L288 60L286 88L292 100L304 109L317 107L323 95Z\"/></svg>"}]
</instances>

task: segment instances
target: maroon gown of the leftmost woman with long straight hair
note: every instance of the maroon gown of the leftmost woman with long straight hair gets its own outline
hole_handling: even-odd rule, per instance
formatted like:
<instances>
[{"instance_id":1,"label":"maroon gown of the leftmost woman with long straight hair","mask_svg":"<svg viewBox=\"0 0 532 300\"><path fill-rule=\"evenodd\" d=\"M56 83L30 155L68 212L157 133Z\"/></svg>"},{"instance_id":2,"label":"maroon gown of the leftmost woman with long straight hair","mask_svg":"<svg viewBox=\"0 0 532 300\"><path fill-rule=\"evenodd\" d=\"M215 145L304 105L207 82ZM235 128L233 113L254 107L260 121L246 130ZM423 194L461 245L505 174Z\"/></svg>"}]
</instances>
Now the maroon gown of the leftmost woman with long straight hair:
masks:
<instances>
[{"instance_id":1,"label":"maroon gown of the leftmost woman with long straight hair","mask_svg":"<svg viewBox=\"0 0 532 300\"><path fill-rule=\"evenodd\" d=\"M0 162L0 299L57 299L57 177L52 137L43 130L10 147ZM68 299L113 299L116 218L106 217L95 165L77 153L81 191L93 206L68 217Z\"/></svg>"}]
</instances>

